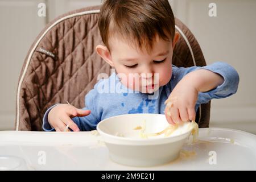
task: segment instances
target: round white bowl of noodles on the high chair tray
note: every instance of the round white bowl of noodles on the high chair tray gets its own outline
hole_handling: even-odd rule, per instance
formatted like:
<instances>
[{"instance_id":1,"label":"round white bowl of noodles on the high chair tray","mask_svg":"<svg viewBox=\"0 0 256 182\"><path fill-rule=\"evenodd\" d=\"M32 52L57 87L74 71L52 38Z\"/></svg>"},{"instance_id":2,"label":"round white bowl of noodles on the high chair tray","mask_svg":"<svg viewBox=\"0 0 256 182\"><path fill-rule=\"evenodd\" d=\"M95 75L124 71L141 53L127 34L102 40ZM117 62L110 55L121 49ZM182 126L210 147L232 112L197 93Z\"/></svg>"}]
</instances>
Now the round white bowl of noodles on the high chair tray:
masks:
<instances>
[{"instance_id":1,"label":"round white bowl of noodles on the high chair tray","mask_svg":"<svg viewBox=\"0 0 256 182\"><path fill-rule=\"evenodd\" d=\"M185 140L191 134L191 125L185 122L170 136L141 138L146 121L145 133L158 133L169 123L164 114L124 114L102 120L97 130L109 149L110 158L127 166L149 167L171 162L179 156Z\"/></svg>"}]
</instances>

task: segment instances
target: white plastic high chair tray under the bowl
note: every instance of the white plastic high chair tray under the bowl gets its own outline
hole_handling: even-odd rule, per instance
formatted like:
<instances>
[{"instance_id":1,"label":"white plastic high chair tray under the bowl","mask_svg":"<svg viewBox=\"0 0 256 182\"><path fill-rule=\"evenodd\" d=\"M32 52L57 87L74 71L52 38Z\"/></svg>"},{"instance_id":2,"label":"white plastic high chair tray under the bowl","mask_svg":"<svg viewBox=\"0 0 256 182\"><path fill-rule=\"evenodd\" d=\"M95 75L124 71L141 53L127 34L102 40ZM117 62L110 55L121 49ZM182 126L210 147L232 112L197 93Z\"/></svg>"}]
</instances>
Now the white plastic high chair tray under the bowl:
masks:
<instances>
[{"instance_id":1,"label":"white plastic high chair tray under the bowl","mask_svg":"<svg viewBox=\"0 0 256 182\"><path fill-rule=\"evenodd\" d=\"M256 169L256 135L240 130L199 129L199 141L183 151L162 166L130 167L112 162L101 137L91 132L0 131L0 170L15 166L11 156L24 159L26 166L16 168L24 170Z\"/></svg>"}]
</instances>

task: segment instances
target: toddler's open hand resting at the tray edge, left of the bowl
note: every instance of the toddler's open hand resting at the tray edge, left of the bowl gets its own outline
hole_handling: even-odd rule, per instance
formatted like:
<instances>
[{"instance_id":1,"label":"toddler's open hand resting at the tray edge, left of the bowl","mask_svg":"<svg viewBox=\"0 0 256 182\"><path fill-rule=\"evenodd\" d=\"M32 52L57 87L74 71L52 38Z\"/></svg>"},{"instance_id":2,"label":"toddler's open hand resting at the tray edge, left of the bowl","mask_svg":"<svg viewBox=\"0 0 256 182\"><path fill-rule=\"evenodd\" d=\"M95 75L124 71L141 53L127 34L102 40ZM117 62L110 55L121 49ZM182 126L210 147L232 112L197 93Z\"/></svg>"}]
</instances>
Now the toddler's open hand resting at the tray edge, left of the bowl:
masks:
<instances>
[{"instance_id":1,"label":"toddler's open hand resting at the tray edge, left of the bowl","mask_svg":"<svg viewBox=\"0 0 256 182\"><path fill-rule=\"evenodd\" d=\"M64 131L67 125L69 125L69 128L73 131L79 131L79 127L77 127L76 123L73 122L71 118L84 117L89 114L90 110L81 110L69 104L60 104L49 111L48 121L56 131Z\"/></svg>"}]
</instances>

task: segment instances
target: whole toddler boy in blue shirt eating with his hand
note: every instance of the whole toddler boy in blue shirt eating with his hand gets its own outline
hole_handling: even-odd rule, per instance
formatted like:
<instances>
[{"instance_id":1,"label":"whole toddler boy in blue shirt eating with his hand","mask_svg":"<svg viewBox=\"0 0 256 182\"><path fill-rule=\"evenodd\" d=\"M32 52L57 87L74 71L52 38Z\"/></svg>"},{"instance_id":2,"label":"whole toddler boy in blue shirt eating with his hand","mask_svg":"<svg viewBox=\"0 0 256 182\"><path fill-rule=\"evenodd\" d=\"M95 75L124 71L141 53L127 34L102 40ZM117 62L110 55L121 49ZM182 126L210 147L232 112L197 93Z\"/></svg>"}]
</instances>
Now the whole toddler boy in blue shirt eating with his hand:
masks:
<instances>
[{"instance_id":1,"label":"whole toddler boy in blue shirt eating with his hand","mask_svg":"<svg viewBox=\"0 0 256 182\"><path fill-rule=\"evenodd\" d=\"M171 124L192 121L200 104L237 92L238 73L226 63L172 65L179 33L167 0L105 0L98 27L104 45L96 52L114 72L86 94L85 108L50 107L45 131L95 130L102 119L131 113L165 114Z\"/></svg>"}]
</instances>

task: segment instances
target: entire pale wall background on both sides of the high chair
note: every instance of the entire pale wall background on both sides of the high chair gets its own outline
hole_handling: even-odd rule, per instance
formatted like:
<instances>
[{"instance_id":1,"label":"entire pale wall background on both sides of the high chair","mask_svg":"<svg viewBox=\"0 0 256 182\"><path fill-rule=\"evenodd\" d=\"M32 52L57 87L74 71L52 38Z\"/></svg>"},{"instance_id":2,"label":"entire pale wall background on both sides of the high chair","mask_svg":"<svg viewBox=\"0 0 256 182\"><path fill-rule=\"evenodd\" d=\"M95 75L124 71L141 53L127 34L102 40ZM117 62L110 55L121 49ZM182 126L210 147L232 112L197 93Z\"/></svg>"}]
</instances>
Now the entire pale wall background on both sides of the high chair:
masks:
<instances>
[{"instance_id":1,"label":"entire pale wall background on both sides of the high chair","mask_svg":"<svg viewBox=\"0 0 256 182\"><path fill-rule=\"evenodd\" d=\"M38 4L46 3L46 17L38 16ZM216 3L217 16L208 15ZM32 42L58 15L100 0L0 0L0 130L13 130L19 72ZM213 100L210 127L229 127L256 134L256 1L174 0L174 14L196 36L207 63L225 61L240 74L236 95Z\"/></svg>"}]
</instances>

